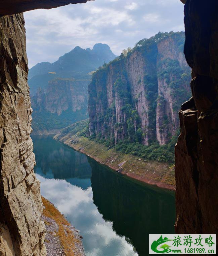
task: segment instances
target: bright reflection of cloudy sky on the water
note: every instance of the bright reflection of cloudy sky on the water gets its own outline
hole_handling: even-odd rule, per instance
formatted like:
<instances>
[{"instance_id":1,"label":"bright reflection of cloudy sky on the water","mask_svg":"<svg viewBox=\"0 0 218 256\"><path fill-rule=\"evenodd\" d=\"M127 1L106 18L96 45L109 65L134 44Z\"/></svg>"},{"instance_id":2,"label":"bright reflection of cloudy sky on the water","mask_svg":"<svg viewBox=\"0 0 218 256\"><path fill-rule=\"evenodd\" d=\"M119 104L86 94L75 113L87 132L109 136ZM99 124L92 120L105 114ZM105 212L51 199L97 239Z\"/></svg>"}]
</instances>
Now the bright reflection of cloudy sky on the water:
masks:
<instances>
[{"instance_id":1,"label":"bright reflection of cloudy sky on the water","mask_svg":"<svg viewBox=\"0 0 218 256\"><path fill-rule=\"evenodd\" d=\"M120 237L116 234L112 227L113 223L103 220L93 203L91 187L83 190L65 180L45 179L39 174L36 176L41 183L42 196L54 203L68 221L73 220L72 225L75 225L84 237L83 242L91 245L85 248L86 256L105 255L103 250L114 242L116 242L115 255L120 255L121 251L125 256L138 255L124 236Z\"/></svg>"}]
</instances>

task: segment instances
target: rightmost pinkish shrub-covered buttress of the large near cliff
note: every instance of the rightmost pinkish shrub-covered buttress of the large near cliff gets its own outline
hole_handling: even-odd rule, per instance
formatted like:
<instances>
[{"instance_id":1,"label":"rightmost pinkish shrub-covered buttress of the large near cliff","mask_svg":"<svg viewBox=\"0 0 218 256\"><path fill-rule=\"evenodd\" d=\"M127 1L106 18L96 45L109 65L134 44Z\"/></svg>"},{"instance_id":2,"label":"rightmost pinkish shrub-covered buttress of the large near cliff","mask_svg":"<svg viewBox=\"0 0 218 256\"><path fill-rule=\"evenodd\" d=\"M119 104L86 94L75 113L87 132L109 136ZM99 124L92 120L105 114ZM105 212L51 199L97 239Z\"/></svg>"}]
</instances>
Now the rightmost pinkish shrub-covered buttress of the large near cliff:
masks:
<instances>
[{"instance_id":1,"label":"rightmost pinkish shrub-covered buttress of the large near cliff","mask_svg":"<svg viewBox=\"0 0 218 256\"><path fill-rule=\"evenodd\" d=\"M158 43L156 134L160 145L176 134L180 104L190 95L190 69L182 50L180 38L167 38Z\"/></svg>"}]
</instances>

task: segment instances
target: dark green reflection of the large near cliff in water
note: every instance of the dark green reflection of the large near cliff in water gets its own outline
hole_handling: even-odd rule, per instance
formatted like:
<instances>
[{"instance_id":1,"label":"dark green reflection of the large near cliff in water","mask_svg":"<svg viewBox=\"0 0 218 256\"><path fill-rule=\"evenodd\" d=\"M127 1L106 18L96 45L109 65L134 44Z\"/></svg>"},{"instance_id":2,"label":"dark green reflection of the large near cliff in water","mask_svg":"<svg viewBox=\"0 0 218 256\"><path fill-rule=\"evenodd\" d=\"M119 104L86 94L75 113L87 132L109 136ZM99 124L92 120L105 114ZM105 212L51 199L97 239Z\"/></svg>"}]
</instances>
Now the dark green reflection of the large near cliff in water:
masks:
<instances>
[{"instance_id":1,"label":"dark green reflection of the large near cliff in water","mask_svg":"<svg viewBox=\"0 0 218 256\"><path fill-rule=\"evenodd\" d=\"M174 233L175 197L121 177L89 159L93 201L113 229L125 235L140 256L148 255L150 234Z\"/></svg>"}]
</instances>

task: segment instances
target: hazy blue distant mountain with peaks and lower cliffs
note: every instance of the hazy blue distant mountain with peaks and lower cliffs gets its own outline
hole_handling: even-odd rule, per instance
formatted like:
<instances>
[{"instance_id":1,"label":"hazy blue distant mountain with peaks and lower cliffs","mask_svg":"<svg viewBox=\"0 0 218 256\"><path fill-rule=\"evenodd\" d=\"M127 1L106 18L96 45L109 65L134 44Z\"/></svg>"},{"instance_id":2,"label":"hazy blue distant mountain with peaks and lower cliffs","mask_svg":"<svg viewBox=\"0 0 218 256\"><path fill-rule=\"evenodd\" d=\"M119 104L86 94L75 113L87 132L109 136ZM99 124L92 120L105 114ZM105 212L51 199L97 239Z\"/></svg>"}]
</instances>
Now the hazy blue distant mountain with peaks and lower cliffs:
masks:
<instances>
[{"instance_id":1,"label":"hazy blue distant mountain with peaks and lower cliffs","mask_svg":"<svg viewBox=\"0 0 218 256\"><path fill-rule=\"evenodd\" d=\"M38 63L29 70L33 132L56 132L88 118L88 85L93 71L116 58L107 44L93 49L76 46L54 63Z\"/></svg>"}]
</instances>

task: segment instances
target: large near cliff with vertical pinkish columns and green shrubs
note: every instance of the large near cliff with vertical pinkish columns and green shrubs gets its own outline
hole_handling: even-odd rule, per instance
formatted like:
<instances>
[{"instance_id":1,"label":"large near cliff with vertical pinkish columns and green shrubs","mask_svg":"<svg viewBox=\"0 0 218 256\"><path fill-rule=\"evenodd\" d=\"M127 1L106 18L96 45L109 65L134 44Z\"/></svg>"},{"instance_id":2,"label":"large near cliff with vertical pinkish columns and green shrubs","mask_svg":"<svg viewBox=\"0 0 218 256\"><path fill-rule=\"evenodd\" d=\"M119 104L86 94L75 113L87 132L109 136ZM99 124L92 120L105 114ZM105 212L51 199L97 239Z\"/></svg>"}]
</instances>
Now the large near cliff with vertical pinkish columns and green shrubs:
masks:
<instances>
[{"instance_id":1,"label":"large near cliff with vertical pinkish columns and green shrubs","mask_svg":"<svg viewBox=\"0 0 218 256\"><path fill-rule=\"evenodd\" d=\"M183 45L183 32L159 33L98 69L89 85L89 136L115 144L168 142L179 128L180 104L190 97Z\"/></svg>"}]
</instances>

